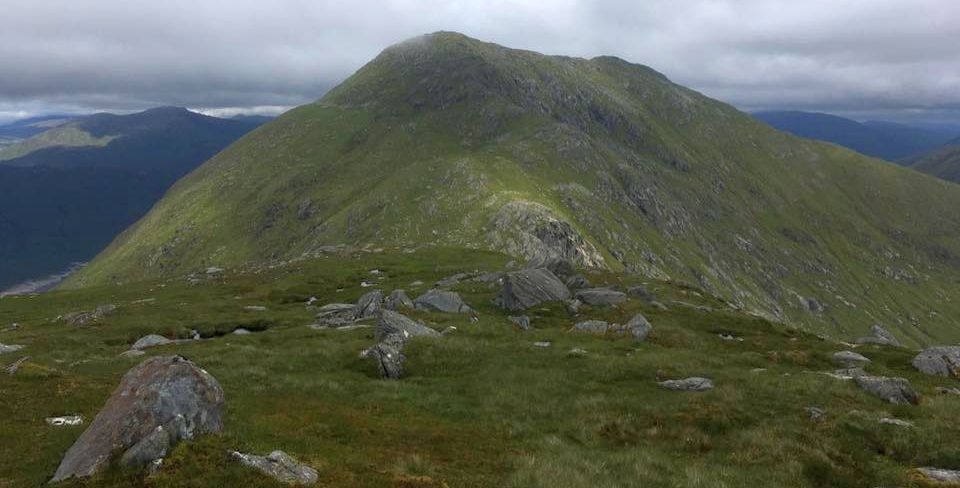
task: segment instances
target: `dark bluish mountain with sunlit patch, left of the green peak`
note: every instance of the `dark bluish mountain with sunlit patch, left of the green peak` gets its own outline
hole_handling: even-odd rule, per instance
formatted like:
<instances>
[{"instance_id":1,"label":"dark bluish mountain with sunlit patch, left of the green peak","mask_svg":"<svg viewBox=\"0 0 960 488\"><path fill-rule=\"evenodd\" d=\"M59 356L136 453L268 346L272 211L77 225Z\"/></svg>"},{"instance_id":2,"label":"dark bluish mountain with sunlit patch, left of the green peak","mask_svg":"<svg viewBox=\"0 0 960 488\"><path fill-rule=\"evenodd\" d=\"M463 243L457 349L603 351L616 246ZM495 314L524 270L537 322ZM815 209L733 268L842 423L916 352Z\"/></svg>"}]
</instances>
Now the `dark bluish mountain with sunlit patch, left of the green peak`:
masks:
<instances>
[{"instance_id":1,"label":"dark bluish mountain with sunlit patch, left of the green peak","mask_svg":"<svg viewBox=\"0 0 960 488\"><path fill-rule=\"evenodd\" d=\"M100 252L256 123L159 108L82 117L0 154L0 289Z\"/></svg>"}]
</instances>

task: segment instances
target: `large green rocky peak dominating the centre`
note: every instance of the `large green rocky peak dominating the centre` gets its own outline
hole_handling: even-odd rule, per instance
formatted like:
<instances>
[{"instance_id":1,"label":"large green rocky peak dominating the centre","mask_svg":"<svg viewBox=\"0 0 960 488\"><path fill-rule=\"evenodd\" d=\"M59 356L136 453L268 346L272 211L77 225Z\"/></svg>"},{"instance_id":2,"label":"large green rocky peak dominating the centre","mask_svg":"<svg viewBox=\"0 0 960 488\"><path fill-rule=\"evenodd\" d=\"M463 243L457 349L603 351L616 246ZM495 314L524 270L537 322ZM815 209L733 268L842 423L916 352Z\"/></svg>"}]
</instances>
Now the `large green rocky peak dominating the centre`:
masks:
<instances>
[{"instance_id":1,"label":"large green rocky peak dominating the centre","mask_svg":"<svg viewBox=\"0 0 960 488\"><path fill-rule=\"evenodd\" d=\"M180 180L65 288L481 248L689 283L842 337L960 339L960 190L662 74L436 33Z\"/></svg>"}]
</instances>

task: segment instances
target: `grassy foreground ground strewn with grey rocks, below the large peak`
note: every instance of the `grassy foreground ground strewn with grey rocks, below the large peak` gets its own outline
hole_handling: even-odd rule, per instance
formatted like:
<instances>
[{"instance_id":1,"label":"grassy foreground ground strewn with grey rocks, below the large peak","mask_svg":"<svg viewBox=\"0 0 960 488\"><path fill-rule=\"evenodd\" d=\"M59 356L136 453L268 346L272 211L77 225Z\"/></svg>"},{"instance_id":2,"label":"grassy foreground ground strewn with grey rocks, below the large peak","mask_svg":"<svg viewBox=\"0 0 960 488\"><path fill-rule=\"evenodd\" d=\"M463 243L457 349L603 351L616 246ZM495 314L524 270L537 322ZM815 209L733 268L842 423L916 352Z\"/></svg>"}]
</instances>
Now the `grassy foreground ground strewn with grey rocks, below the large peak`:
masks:
<instances>
[{"instance_id":1,"label":"grassy foreground ground strewn with grey rocks, below the large peak","mask_svg":"<svg viewBox=\"0 0 960 488\"><path fill-rule=\"evenodd\" d=\"M960 468L960 396L936 395L953 380L914 372L913 351L857 349L873 360L868 372L907 377L924 397L918 407L893 407L819 374L835 369L830 355L843 345L730 310L681 284L648 282L669 310L631 300L572 317L554 304L528 312L531 331L493 307L495 288L458 285L479 321L408 312L458 330L412 342L401 381L380 380L358 357L373 344L371 329L306 327L311 296L318 304L350 302L369 290L363 280L416 296L437 279L501 270L508 260L451 249L362 252L227 270L198 284L178 278L3 298L0 330L20 327L0 332L0 342L27 348L0 356L0 364L32 359L14 376L0 374L0 487L49 479L86 424L55 428L44 418L81 414L89 423L144 359L117 357L133 341L147 333L186 337L190 329L208 339L149 349L146 357L180 354L213 374L227 395L225 431L181 443L159 474L111 468L63 486L279 486L230 461L227 449L285 450L320 470L319 486L906 487L924 486L915 467ZM642 282L589 278L621 288ZM410 286L418 280L426 285ZM105 303L118 310L95 325L55 320ZM245 311L249 305L268 310ZM644 343L569 330L587 318L623 323L637 311L654 325ZM257 332L225 335L236 327ZM716 388L657 385L687 376L712 378ZM810 406L825 417L811 420ZM882 417L915 427L882 425Z\"/></svg>"}]
</instances>

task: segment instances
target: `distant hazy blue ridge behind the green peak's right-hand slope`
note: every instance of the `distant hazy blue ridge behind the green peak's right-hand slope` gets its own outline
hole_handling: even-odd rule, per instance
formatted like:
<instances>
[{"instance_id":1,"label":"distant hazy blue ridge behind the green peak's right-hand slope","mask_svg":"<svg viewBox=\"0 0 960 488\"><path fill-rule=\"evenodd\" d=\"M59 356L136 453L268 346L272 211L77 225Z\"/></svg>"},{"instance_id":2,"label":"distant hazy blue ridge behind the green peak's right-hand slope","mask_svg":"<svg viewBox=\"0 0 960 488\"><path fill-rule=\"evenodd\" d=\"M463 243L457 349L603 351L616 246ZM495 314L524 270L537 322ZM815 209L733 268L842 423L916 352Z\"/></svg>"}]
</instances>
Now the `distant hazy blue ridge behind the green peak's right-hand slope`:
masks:
<instances>
[{"instance_id":1,"label":"distant hazy blue ridge behind the green peak's right-hand slope","mask_svg":"<svg viewBox=\"0 0 960 488\"><path fill-rule=\"evenodd\" d=\"M887 161L928 151L956 135L894 122L861 123L822 113L781 111L758 112L753 116L784 132L832 142Z\"/></svg>"}]
</instances>

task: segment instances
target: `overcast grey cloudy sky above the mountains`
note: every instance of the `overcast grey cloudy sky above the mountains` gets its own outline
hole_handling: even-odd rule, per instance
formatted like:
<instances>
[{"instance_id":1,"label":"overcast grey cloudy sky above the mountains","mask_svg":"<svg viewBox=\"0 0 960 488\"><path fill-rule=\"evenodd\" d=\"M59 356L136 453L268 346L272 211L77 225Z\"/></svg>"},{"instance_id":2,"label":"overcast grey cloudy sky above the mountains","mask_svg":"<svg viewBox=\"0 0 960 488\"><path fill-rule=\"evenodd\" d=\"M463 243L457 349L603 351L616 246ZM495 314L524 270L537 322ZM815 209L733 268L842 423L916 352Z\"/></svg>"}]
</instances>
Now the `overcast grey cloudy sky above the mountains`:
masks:
<instances>
[{"instance_id":1,"label":"overcast grey cloudy sky above the mountains","mask_svg":"<svg viewBox=\"0 0 960 488\"><path fill-rule=\"evenodd\" d=\"M610 54L744 110L960 122L958 0L0 0L0 121L181 105L274 113L455 30Z\"/></svg>"}]
</instances>

